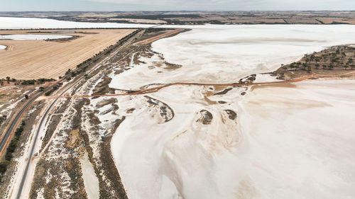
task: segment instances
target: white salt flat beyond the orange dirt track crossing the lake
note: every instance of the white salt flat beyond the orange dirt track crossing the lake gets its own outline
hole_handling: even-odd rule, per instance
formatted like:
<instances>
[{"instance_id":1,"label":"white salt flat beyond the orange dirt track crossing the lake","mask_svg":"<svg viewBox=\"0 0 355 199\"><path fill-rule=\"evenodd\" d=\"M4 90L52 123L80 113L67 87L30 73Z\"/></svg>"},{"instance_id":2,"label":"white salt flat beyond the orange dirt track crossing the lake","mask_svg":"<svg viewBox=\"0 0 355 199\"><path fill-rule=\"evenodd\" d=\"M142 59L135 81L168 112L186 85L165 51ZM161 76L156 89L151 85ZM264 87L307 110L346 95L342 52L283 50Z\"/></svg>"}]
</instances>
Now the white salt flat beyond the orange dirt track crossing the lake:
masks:
<instances>
[{"instance_id":1,"label":"white salt flat beyond the orange dirt track crossing the lake","mask_svg":"<svg viewBox=\"0 0 355 199\"><path fill-rule=\"evenodd\" d=\"M202 26L204 28L202 28ZM200 27L200 29L199 29ZM153 42L153 50L182 67L151 68L158 56L141 57L146 64L112 76L110 86L138 89L153 83L232 83L250 74L271 72L324 47L354 43L354 25L201 25L172 38ZM264 81L267 76L258 76ZM134 79L134 81L131 81Z\"/></svg>"}]
</instances>

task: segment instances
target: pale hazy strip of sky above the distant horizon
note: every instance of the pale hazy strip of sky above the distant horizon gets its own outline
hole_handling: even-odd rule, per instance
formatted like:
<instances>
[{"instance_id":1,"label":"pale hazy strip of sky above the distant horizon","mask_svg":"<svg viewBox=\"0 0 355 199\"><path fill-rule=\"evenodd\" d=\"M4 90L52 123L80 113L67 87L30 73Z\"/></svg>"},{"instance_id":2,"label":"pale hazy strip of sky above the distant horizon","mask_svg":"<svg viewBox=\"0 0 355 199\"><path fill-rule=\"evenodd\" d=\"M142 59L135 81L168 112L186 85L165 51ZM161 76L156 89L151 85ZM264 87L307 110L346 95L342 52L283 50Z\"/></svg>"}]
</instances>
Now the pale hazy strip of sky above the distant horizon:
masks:
<instances>
[{"instance_id":1,"label":"pale hazy strip of sky above the distant horizon","mask_svg":"<svg viewBox=\"0 0 355 199\"><path fill-rule=\"evenodd\" d=\"M0 0L0 11L355 10L355 0Z\"/></svg>"}]
</instances>

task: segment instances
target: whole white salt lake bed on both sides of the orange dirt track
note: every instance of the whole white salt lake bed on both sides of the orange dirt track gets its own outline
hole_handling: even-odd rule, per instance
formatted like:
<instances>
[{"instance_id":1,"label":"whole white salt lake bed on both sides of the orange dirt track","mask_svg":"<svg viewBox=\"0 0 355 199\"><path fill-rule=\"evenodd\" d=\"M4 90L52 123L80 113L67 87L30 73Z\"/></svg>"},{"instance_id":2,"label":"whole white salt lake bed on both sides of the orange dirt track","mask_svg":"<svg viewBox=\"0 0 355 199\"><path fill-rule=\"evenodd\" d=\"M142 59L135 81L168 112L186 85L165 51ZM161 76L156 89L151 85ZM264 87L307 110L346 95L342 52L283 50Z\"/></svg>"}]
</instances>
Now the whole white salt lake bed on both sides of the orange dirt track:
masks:
<instances>
[{"instance_id":1,"label":"whole white salt lake bed on both sides of the orange dirt track","mask_svg":"<svg viewBox=\"0 0 355 199\"><path fill-rule=\"evenodd\" d=\"M141 57L146 64L112 76L110 87L235 82L314 50L354 43L355 30L348 25L214 27L153 43L153 50L182 64L180 69L152 68L158 57ZM271 80L256 76L256 81ZM297 85L249 90L244 100L242 89L209 97L224 104L204 99L208 87L171 86L149 94L175 112L163 124L143 96L118 97L119 115L136 108L111 142L129 198L354 198L355 81ZM202 109L212 113L211 125L197 122ZM226 109L238 113L237 123Z\"/></svg>"}]
</instances>

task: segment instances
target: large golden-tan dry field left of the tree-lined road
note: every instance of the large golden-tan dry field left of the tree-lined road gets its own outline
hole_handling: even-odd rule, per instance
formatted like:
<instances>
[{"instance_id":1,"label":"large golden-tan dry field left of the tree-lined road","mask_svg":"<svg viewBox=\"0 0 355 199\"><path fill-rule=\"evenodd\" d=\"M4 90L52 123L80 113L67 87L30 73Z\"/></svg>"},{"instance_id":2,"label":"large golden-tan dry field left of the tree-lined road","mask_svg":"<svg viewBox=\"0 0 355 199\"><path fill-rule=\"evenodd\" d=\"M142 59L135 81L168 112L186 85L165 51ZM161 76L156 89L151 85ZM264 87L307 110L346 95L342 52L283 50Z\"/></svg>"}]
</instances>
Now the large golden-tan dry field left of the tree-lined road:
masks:
<instances>
[{"instance_id":1,"label":"large golden-tan dry field left of the tree-lined road","mask_svg":"<svg viewBox=\"0 0 355 199\"><path fill-rule=\"evenodd\" d=\"M43 30L44 31L44 30ZM55 31L55 30L53 30ZM86 59L113 45L134 30L76 30L80 38L66 42L0 40L0 78L58 78ZM0 34L26 34L28 30L1 30ZM83 33L86 32L86 33ZM59 34L59 33L58 33Z\"/></svg>"}]
</instances>

